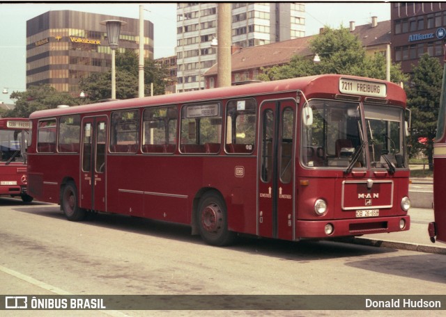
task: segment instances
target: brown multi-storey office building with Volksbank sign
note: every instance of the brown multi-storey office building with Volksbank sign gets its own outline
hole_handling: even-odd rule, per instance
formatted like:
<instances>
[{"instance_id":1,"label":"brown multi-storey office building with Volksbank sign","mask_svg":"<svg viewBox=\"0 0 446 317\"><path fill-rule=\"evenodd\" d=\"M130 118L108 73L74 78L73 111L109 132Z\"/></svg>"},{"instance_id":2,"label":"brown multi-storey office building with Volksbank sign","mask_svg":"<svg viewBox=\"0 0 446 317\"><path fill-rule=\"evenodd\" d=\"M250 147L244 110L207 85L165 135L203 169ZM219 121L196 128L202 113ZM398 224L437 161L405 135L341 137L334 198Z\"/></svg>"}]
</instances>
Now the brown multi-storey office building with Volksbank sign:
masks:
<instances>
[{"instance_id":1,"label":"brown multi-storey office building with Volksbank sign","mask_svg":"<svg viewBox=\"0 0 446 317\"><path fill-rule=\"evenodd\" d=\"M139 20L111 15L55 10L26 22L26 88L49 84L79 95L79 80L92 72L107 72L112 51L107 29L100 22L119 19L118 51L139 53ZM144 21L144 58L153 58L153 24Z\"/></svg>"}]
</instances>

